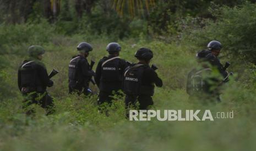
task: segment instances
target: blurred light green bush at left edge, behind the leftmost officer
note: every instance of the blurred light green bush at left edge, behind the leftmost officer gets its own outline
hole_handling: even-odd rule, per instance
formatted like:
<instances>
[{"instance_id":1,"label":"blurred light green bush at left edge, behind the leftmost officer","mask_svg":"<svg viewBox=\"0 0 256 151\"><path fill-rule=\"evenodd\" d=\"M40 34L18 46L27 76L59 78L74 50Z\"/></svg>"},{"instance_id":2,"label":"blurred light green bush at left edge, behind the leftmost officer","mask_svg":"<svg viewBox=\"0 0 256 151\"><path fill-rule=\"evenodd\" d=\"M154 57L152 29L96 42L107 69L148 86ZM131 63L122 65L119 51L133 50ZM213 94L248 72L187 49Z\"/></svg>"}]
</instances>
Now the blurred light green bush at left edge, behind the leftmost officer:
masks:
<instances>
[{"instance_id":1,"label":"blurred light green bush at left edge, behind the leftmost officer","mask_svg":"<svg viewBox=\"0 0 256 151\"><path fill-rule=\"evenodd\" d=\"M0 25L0 54L24 54L29 45L48 43L54 28L43 20L41 24Z\"/></svg>"}]
</instances>

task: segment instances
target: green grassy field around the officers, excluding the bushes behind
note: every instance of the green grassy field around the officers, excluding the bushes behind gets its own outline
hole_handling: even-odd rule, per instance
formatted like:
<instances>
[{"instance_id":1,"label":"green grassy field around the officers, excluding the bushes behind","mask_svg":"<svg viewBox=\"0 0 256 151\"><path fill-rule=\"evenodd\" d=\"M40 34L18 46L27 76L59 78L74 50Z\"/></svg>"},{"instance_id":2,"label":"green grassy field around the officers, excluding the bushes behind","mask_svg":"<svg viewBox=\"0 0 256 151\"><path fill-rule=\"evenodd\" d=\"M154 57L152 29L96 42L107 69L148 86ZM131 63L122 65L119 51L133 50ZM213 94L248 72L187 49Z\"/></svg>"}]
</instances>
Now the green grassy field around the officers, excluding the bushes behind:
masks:
<instances>
[{"instance_id":1,"label":"green grassy field around the officers, excluding the bushes behind","mask_svg":"<svg viewBox=\"0 0 256 151\"><path fill-rule=\"evenodd\" d=\"M86 37L86 36L85 36ZM189 101L186 77L195 65L194 51L189 45L166 44L159 40L127 39L121 57L136 62L135 51L148 47L154 51L157 73L164 82L156 88L155 109L210 109L212 113L234 111L233 119L214 121L128 121L124 118L124 98L117 98L108 117L97 111L97 96L68 95L68 63L84 36L53 36L44 43L43 59L48 72L56 68L55 85L48 92L55 98L56 113L45 116L36 108L33 119L21 110L22 97L17 86L17 69L24 56L8 54L3 69L8 94L0 105L1 150L255 150L256 97L250 84L231 82L224 86L219 104L202 105ZM107 38L89 40L94 50L89 56L98 62L107 55ZM25 53L22 52L23 54ZM22 54L21 53L21 54ZM223 61L227 61L223 59ZM96 66L95 66L96 67ZM95 68L94 67L94 68ZM239 68L239 66L233 67ZM2 75L2 74L1 74ZM250 75L246 75L250 77ZM95 86L92 90L97 91Z\"/></svg>"}]
</instances>

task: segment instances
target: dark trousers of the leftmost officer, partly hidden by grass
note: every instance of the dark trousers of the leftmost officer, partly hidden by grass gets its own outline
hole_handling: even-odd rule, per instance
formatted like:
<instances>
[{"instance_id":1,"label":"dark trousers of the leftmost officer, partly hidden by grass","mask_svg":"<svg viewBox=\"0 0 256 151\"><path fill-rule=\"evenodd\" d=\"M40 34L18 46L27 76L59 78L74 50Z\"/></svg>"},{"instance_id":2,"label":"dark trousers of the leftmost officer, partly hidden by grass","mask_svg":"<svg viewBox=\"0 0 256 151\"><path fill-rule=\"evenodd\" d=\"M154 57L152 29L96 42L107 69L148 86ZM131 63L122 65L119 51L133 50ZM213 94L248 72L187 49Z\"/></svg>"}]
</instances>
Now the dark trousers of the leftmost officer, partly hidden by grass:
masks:
<instances>
[{"instance_id":1,"label":"dark trousers of the leftmost officer, partly hidden by grass","mask_svg":"<svg viewBox=\"0 0 256 151\"><path fill-rule=\"evenodd\" d=\"M47 92L31 92L23 94L23 96L25 99L22 108L26 110L27 115L35 113L34 109L30 108L31 104L39 104L42 108L46 109L46 115L55 112L52 97Z\"/></svg>"}]
</instances>

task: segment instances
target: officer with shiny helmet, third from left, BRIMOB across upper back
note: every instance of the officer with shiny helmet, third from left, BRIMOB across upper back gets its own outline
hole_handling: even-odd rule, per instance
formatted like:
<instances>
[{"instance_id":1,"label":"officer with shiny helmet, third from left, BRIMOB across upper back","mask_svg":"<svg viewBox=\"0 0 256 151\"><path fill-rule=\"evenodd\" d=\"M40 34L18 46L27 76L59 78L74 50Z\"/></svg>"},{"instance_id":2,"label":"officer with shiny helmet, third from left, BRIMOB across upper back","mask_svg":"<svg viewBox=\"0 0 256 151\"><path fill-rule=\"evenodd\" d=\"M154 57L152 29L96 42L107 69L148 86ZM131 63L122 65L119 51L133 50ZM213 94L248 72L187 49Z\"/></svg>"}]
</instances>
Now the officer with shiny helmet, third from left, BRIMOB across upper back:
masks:
<instances>
[{"instance_id":1,"label":"officer with shiny helmet, third from left, BRIMOB across upper back","mask_svg":"<svg viewBox=\"0 0 256 151\"><path fill-rule=\"evenodd\" d=\"M110 43L106 49L109 55L100 60L95 72L95 82L100 89L98 104L111 103L112 96L119 95L127 67L126 61L119 57L121 46L118 43Z\"/></svg>"}]
</instances>

